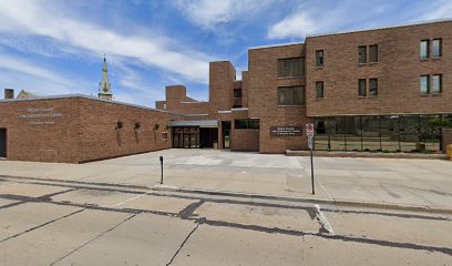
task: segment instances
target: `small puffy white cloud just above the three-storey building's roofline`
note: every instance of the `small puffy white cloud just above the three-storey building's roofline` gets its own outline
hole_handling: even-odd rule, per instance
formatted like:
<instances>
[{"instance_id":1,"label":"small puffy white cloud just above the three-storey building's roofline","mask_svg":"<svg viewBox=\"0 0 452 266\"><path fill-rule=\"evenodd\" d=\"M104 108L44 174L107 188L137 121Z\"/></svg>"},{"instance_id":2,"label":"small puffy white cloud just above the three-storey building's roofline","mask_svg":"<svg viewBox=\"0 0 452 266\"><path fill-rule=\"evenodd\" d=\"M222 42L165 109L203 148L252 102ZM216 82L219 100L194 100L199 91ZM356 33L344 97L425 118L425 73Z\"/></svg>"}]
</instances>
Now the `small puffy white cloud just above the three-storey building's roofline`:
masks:
<instances>
[{"instance_id":1,"label":"small puffy white cloud just above the three-storey building's roofline","mask_svg":"<svg viewBox=\"0 0 452 266\"><path fill-rule=\"evenodd\" d=\"M306 12L299 12L271 25L268 30L268 38L305 38L307 34L311 34L318 30L319 23L312 20Z\"/></svg>"}]
</instances>

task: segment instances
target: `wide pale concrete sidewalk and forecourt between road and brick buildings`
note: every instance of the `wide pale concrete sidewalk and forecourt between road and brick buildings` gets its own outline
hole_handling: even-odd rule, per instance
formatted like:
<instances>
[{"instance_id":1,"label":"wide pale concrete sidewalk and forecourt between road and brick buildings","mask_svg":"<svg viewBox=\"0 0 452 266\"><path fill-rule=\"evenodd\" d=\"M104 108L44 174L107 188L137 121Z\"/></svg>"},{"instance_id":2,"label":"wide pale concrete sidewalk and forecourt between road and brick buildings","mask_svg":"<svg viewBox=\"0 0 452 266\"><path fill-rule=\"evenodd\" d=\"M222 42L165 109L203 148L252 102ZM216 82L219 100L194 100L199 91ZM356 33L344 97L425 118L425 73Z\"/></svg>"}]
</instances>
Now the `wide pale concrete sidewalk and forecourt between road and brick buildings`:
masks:
<instances>
[{"instance_id":1,"label":"wide pale concrete sidewalk and forecourt between road and brick buildings","mask_svg":"<svg viewBox=\"0 0 452 266\"><path fill-rule=\"evenodd\" d=\"M316 157L311 195L309 157L216 150L167 150L88 164L0 161L0 176L134 186L165 185L246 194L417 205L452 209L452 162Z\"/></svg>"}]
</instances>

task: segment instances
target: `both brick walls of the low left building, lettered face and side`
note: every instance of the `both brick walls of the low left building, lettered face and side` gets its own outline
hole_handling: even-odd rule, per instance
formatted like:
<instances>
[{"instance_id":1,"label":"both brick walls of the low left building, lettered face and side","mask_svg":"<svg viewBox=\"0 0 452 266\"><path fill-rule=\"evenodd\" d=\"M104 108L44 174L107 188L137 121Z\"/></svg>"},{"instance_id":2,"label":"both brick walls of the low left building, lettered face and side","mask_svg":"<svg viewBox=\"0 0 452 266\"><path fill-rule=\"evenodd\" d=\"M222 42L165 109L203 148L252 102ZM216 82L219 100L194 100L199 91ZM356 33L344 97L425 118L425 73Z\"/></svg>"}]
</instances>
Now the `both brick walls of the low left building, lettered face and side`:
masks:
<instances>
[{"instance_id":1,"label":"both brick walls of the low left building, lettered face and side","mask_svg":"<svg viewBox=\"0 0 452 266\"><path fill-rule=\"evenodd\" d=\"M35 114L56 116L30 117ZM168 149L171 134L163 140L162 131L174 117L183 119L85 98L0 102L0 129L8 131L7 157L18 161L80 163ZM123 129L115 130L119 121ZM135 123L140 130L134 130Z\"/></svg>"}]
</instances>

